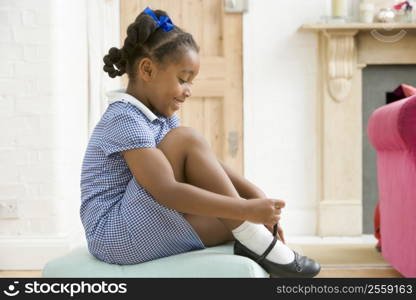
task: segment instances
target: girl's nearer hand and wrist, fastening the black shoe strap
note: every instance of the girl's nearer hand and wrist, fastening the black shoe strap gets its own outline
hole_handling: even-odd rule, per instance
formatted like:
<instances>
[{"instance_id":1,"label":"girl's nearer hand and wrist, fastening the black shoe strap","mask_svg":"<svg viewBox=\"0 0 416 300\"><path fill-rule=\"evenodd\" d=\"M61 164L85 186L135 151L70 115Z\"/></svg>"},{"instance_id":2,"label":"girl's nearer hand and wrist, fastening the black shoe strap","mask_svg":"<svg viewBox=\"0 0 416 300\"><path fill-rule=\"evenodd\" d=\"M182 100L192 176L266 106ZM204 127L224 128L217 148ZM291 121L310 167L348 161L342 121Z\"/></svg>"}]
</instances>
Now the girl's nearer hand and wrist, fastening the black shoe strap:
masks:
<instances>
[{"instance_id":1,"label":"girl's nearer hand and wrist, fastening the black shoe strap","mask_svg":"<svg viewBox=\"0 0 416 300\"><path fill-rule=\"evenodd\" d=\"M273 226L280 220L285 202L277 199L257 198L244 202L245 220Z\"/></svg>"}]
</instances>

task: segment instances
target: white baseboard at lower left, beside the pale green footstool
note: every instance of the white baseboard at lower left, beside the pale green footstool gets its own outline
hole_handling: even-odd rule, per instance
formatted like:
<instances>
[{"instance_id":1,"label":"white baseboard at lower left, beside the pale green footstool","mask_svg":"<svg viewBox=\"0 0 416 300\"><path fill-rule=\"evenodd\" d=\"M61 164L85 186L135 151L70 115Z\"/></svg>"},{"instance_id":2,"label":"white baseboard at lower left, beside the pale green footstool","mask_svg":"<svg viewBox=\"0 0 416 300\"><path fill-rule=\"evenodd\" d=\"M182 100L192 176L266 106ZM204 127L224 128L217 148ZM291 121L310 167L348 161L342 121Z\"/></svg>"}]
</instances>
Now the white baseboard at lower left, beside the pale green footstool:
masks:
<instances>
[{"instance_id":1,"label":"white baseboard at lower left, beside the pale green footstool","mask_svg":"<svg viewBox=\"0 0 416 300\"><path fill-rule=\"evenodd\" d=\"M71 250L71 237L1 237L0 270L41 270L56 257Z\"/></svg>"}]
</instances>

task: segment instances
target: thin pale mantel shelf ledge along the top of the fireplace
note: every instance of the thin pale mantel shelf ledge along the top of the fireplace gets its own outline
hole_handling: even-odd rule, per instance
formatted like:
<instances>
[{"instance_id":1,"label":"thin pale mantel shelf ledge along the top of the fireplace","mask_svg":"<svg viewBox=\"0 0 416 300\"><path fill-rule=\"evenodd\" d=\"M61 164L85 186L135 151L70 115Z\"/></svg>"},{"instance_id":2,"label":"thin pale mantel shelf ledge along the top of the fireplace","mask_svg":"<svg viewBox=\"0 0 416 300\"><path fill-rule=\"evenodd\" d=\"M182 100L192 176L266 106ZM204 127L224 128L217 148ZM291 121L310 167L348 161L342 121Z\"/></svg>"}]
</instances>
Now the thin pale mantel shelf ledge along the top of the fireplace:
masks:
<instances>
[{"instance_id":1,"label":"thin pale mantel shelf ledge along the top of the fireplace","mask_svg":"<svg viewBox=\"0 0 416 300\"><path fill-rule=\"evenodd\" d=\"M304 30L372 30L415 29L416 23L314 23L301 26Z\"/></svg>"}]
</instances>

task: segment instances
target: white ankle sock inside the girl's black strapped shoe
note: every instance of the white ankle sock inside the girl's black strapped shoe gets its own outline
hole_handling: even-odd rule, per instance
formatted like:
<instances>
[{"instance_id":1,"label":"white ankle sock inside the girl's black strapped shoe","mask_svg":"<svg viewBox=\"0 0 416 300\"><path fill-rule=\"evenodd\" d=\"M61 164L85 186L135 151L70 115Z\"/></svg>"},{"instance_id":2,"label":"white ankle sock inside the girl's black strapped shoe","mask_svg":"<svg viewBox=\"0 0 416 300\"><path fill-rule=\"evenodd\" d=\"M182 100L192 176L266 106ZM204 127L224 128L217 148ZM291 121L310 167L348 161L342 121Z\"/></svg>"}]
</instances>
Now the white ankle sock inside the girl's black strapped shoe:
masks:
<instances>
[{"instance_id":1,"label":"white ankle sock inside the girl's black strapped shoe","mask_svg":"<svg viewBox=\"0 0 416 300\"><path fill-rule=\"evenodd\" d=\"M231 232L241 244L258 255L262 255L273 240L273 235L266 226L249 221L245 221ZM266 259L278 264L288 264L295 259L295 254L280 240L277 240Z\"/></svg>"}]
</instances>

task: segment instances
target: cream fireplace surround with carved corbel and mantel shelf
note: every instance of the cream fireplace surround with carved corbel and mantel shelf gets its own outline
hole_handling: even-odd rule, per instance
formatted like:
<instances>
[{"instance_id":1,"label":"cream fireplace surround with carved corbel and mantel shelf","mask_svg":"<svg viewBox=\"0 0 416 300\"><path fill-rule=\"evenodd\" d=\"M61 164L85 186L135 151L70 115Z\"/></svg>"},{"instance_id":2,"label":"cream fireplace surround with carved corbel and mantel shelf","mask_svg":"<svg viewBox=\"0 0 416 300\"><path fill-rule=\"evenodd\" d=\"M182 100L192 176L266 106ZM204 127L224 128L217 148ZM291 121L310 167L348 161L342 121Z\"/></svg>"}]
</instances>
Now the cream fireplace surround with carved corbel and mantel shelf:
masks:
<instances>
[{"instance_id":1,"label":"cream fireplace surround with carved corbel and mantel shelf","mask_svg":"<svg viewBox=\"0 0 416 300\"><path fill-rule=\"evenodd\" d=\"M319 40L318 235L361 235L362 69L416 64L416 24L305 24L301 30Z\"/></svg>"}]
</instances>

